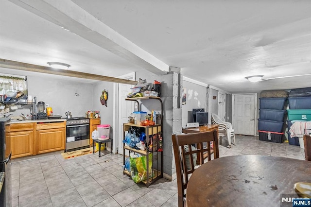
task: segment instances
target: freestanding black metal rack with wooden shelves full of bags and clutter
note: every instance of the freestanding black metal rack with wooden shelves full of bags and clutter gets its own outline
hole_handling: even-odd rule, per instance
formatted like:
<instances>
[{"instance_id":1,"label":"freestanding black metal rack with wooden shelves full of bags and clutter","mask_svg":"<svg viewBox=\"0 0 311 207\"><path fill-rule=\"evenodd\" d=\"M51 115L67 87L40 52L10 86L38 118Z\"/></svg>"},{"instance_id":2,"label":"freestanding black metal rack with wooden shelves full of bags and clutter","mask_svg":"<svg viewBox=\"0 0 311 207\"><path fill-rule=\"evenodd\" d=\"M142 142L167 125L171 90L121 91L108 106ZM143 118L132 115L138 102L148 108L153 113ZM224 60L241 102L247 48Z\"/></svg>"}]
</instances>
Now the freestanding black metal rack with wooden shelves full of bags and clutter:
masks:
<instances>
[{"instance_id":1,"label":"freestanding black metal rack with wooden shelves full of bags and clutter","mask_svg":"<svg viewBox=\"0 0 311 207\"><path fill-rule=\"evenodd\" d=\"M137 113L135 119L129 117L129 122L123 123L123 174L149 187L163 177L163 103L159 97L133 97L125 100L136 102L138 112L144 100L160 103L159 115L153 110L150 115L146 112Z\"/></svg>"}]
</instances>

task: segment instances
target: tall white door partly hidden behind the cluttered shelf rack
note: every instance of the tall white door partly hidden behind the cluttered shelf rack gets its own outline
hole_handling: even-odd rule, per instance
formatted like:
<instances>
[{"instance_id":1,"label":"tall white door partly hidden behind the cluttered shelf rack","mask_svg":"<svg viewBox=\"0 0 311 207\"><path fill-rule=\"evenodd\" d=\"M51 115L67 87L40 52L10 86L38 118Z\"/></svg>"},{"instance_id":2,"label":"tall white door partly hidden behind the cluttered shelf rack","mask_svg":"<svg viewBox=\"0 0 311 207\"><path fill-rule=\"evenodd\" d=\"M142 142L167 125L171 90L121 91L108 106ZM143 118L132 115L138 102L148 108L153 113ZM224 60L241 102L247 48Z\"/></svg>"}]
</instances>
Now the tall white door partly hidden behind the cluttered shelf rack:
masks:
<instances>
[{"instance_id":1,"label":"tall white door partly hidden behind the cluttered shelf rack","mask_svg":"<svg viewBox=\"0 0 311 207\"><path fill-rule=\"evenodd\" d=\"M135 80L135 73L123 79ZM118 122L118 154L123 155L123 123L128 122L128 117L134 111L135 102L125 101L126 96L131 92L133 85L119 84L119 122Z\"/></svg>"}]
</instances>

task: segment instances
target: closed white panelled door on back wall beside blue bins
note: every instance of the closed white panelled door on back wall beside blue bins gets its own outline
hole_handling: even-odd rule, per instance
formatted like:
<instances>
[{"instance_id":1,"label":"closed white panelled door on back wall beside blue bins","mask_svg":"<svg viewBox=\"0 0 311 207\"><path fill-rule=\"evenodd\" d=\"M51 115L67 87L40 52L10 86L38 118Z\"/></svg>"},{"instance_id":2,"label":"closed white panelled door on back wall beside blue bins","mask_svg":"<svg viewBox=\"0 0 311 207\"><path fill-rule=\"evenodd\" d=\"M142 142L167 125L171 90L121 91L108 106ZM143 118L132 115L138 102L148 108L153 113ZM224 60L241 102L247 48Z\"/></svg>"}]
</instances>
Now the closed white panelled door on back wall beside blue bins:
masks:
<instances>
[{"instance_id":1,"label":"closed white panelled door on back wall beside blue bins","mask_svg":"<svg viewBox=\"0 0 311 207\"><path fill-rule=\"evenodd\" d=\"M257 117L257 94L233 95L233 128L235 134L254 136Z\"/></svg>"}]
</instances>

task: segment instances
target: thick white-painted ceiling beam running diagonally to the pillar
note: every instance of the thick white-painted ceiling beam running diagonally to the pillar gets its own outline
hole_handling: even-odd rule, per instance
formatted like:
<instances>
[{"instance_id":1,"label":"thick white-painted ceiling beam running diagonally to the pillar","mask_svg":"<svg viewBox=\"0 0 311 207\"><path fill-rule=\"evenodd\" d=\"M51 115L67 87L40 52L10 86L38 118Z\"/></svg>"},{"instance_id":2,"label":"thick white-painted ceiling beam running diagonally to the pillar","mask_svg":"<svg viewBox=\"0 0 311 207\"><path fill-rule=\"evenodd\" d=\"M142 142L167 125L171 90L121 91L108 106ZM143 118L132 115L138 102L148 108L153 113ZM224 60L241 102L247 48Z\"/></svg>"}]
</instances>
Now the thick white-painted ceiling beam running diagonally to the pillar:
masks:
<instances>
[{"instance_id":1,"label":"thick white-painted ceiling beam running diagonally to the pillar","mask_svg":"<svg viewBox=\"0 0 311 207\"><path fill-rule=\"evenodd\" d=\"M166 74L169 66L142 50L71 0L10 0L84 39L157 75Z\"/></svg>"}]
</instances>

